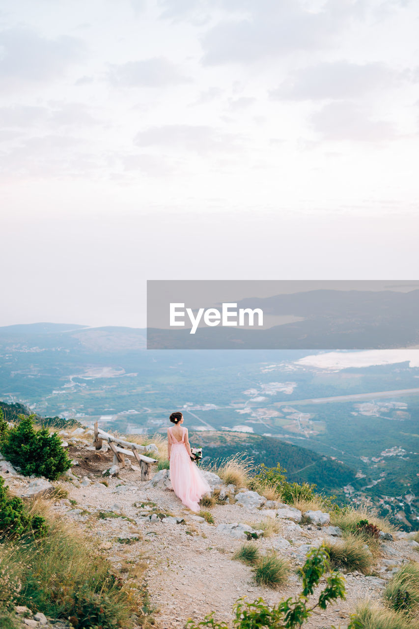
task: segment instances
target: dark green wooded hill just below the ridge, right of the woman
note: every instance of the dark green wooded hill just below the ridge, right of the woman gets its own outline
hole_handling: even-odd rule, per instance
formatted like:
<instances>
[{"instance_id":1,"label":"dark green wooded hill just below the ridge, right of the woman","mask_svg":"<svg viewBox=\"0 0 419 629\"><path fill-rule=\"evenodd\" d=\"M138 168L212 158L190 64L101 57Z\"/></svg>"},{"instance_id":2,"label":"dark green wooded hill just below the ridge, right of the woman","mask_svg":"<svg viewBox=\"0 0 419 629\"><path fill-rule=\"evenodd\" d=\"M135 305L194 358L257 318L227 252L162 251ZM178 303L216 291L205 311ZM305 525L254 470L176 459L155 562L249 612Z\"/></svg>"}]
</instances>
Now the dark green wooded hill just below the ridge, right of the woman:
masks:
<instances>
[{"instance_id":1,"label":"dark green wooded hill just below the ridge, right of the woman","mask_svg":"<svg viewBox=\"0 0 419 629\"><path fill-rule=\"evenodd\" d=\"M191 440L194 445L203 447L204 456L211 460L245 452L257 465L264 463L267 467L276 467L280 463L291 482L315 483L318 491L336 494L341 499L344 498L344 485L359 486L356 471L349 465L274 437L232 431L191 431Z\"/></svg>"}]
</instances>

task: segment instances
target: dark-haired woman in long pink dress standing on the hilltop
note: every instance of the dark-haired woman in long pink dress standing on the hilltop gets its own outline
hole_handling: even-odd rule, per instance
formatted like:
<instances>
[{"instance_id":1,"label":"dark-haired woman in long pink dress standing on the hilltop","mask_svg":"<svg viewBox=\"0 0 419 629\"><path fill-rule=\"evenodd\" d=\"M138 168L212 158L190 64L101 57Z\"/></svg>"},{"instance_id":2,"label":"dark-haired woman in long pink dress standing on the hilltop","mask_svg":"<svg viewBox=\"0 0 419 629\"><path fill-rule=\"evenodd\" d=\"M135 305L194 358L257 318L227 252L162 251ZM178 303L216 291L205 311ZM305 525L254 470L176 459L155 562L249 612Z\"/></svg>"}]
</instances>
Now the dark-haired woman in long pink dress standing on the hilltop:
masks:
<instances>
[{"instance_id":1,"label":"dark-haired woman in long pink dress standing on the hilltop","mask_svg":"<svg viewBox=\"0 0 419 629\"><path fill-rule=\"evenodd\" d=\"M191 446L187 428L183 428L183 415L172 413L172 428L167 428L167 458L170 460L170 482L173 491L191 511L199 511L199 500L211 487L204 479L198 465L191 460Z\"/></svg>"}]
</instances>

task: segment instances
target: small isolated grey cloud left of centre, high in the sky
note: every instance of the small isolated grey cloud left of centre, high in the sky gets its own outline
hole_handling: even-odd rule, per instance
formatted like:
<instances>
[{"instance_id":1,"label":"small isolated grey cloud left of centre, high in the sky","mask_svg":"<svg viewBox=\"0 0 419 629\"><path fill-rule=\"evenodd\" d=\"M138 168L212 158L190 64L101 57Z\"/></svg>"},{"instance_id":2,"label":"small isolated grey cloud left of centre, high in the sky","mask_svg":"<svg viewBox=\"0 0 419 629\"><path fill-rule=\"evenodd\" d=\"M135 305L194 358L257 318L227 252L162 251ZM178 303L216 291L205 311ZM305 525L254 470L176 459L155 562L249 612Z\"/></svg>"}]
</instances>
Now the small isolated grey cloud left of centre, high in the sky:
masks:
<instances>
[{"instance_id":1,"label":"small isolated grey cloud left of centre, high in the sky","mask_svg":"<svg viewBox=\"0 0 419 629\"><path fill-rule=\"evenodd\" d=\"M176 65L164 57L112 65L108 79L116 87L164 87L191 82Z\"/></svg>"}]
</instances>

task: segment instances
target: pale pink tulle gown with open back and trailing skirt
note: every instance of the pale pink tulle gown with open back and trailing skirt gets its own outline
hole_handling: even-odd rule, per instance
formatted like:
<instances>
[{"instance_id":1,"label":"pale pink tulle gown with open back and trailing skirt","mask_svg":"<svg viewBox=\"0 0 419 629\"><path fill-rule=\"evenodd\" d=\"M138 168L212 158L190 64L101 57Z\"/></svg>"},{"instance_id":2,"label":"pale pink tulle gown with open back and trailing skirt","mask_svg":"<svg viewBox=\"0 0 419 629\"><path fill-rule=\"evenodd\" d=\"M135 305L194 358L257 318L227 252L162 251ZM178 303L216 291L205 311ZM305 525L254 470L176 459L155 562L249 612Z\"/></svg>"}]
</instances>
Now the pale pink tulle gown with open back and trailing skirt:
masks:
<instances>
[{"instance_id":1,"label":"pale pink tulle gown with open back and trailing skirt","mask_svg":"<svg viewBox=\"0 0 419 629\"><path fill-rule=\"evenodd\" d=\"M182 428L182 441L177 441L169 428L172 437L170 450L170 482L173 491L182 503L191 511L199 511L199 500L204 494L211 492L211 487L198 469L198 465L187 454L185 445L186 428Z\"/></svg>"}]
</instances>

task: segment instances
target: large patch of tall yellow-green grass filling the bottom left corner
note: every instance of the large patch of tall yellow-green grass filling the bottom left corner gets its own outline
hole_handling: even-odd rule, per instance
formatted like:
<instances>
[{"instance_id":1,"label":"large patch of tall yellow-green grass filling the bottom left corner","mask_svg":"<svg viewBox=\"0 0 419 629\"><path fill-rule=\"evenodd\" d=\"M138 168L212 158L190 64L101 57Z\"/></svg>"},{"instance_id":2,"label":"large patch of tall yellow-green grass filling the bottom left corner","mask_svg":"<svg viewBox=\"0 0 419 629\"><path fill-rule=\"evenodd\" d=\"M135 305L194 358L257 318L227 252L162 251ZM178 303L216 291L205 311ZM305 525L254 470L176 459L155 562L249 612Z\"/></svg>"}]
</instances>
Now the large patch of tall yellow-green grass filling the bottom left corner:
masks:
<instances>
[{"instance_id":1,"label":"large patch of tall yellow-green grass filling the bottom left corner","mask_svg":"<svg viewBox=\"0 0 419 629\"><path fill-rule=\"evenodd\" d=\"M2 601L26 605L34 613L70 620L77 629L133 625L131 615L140 610L128 589L137 581L126 578L125 586L109 562L59 519L50 521L45 537L0 545L0 608Z\"/></svg>"}]
</instances>

